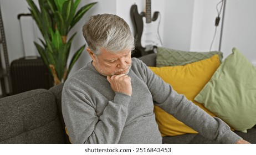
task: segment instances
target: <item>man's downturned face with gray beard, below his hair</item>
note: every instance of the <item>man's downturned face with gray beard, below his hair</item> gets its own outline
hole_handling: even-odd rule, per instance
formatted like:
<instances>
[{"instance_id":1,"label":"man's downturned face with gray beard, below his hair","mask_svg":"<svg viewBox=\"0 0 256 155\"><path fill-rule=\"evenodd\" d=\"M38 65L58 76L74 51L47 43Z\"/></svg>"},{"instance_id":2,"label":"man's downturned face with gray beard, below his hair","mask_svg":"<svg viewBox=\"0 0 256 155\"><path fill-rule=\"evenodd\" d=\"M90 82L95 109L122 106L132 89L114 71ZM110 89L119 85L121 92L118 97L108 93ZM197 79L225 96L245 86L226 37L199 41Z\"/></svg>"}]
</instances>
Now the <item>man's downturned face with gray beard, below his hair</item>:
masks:
<instances>
[{"instance_id":1,"label":"man's downturned face with gray beard, below his hair","mask_svg":"<svg viewBox=\"0 0 256 155\"><path fill-rule=\"evenodd\" d=\"M116 54L101 49L101 54L92 56L92 59L96 70L104 76L128 74L131 68L131 50L123 50Z\"/></svg>"}]
</instances>

